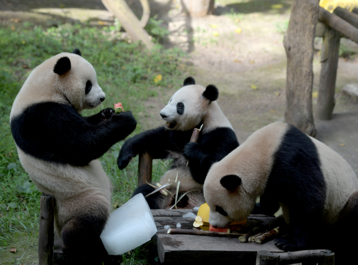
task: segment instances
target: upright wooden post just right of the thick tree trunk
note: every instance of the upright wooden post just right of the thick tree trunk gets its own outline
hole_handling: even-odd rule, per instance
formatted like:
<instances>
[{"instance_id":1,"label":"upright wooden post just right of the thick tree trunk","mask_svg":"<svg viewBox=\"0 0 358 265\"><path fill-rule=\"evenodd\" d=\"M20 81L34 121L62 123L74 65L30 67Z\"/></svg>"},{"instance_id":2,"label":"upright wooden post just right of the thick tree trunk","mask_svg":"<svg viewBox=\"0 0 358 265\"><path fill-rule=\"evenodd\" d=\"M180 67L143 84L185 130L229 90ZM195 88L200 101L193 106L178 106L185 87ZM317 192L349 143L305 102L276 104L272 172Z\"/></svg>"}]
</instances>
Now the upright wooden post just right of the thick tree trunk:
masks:
<instances>
[{"instance_id":1,"label":"upright wooden post just right of the thick tree trunk","mask_svg":"<svg viewBox=\"0 0 358 265\"><path fill-rule=\"evenodd\" d=\"M315 117L320 120L332 119L335 106L335 88L338 68L340 33L326 30L323 36L321 53L321 76Z\"/></svg>"}]
</instances>

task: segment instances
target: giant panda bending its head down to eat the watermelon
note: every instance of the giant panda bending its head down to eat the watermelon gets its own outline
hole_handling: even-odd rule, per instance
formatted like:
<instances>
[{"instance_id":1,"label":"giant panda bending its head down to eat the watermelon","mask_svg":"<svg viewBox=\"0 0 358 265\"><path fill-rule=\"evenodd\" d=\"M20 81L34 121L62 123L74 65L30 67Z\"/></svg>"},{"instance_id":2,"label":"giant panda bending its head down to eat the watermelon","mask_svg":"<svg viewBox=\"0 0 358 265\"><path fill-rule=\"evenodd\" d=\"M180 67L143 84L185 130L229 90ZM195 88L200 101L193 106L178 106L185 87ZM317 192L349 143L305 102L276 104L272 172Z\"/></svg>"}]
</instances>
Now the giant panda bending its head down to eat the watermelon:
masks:
<instances>
[{"instance_id":1,"label":"giant panda bending its head down to eat the watermelon","mask_svg":"<svg viewBox=\"0 0 358 265\"><path fill-rule=\"evenodd\" d=\"M340 155L282 122L253 133L214 164L204 182L213 226L252 212L272 215L282 206L288 236L275 244L285 251L311 247L316 239L310 236L339 221L357 189L357 176Z\"/></svg>"}]
</instances>

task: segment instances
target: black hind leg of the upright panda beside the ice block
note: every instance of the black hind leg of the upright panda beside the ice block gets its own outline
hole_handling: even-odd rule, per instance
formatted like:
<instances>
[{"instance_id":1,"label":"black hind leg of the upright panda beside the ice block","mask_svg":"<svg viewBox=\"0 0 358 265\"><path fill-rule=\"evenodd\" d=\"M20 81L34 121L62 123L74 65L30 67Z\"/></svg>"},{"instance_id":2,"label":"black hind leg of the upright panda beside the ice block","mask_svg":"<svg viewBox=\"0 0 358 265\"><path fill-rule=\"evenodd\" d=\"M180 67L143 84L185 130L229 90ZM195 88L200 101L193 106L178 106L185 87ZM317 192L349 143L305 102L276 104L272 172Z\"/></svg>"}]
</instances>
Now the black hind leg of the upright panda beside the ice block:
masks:
<instances>
[{"instance_id":1,"label":"black hind leg of the upright panda beside the ice block","mask_svg":"<svg viewBox=\"0 0 358 265\"><path fill-rule=\"evenodd\" d=\"M63 252L80 259L106 255L99 236L107 218L108 216L85 215L68 221L61 231Z\"/></svg>"}]
</instances>

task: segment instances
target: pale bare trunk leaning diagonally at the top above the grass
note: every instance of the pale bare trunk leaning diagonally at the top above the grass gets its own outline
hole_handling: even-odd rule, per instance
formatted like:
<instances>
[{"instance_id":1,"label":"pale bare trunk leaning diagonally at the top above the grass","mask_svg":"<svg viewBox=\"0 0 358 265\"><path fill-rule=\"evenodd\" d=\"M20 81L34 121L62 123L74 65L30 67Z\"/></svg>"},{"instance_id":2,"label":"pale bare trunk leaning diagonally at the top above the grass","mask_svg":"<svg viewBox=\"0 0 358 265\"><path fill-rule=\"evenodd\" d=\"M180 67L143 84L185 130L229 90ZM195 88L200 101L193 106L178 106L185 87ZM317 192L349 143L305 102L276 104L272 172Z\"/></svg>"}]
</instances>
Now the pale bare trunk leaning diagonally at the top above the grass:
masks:
<instances>
[{"instance_id":1,"label":"pale bare trunk leaning diagonally at the top above the grass","mask_svg":"<svg viewBox=\"0 0 358 265\"><path fill-rule=\"evenodd\" d=\"M154 44L147 31L145 31L136 15L124 0L102 0L103 5L121 22L124 30L133 41L141 41L148 49Z\"/></svg>"}]
</instances>

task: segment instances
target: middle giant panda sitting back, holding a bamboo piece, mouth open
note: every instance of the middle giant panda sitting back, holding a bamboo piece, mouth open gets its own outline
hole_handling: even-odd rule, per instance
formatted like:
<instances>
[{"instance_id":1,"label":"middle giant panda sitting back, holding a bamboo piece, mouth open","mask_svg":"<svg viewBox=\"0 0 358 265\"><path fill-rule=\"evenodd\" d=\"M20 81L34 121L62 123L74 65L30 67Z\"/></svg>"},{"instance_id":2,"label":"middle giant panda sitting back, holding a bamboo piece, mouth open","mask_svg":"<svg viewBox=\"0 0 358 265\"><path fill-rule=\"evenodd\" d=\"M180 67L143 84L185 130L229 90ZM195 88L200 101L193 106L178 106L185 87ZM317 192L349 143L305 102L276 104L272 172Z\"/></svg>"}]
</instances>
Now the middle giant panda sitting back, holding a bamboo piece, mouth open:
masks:
<instances>
[{"instance_id":1,"label":"middle giant panda sitting back, holding a bamboo piece, mouth open","mask_svg":"<svg viewBox=\"0 0 358 265\"><path fill-rule=\"evenodd\" d=\"M167 189L176 194L178 176L179 192L197 189L179 201L179 208L192 208L204 203L202 184L211 165L239 146L229 120L215 101L218 94L215 86L204 88L195 85L193 78L186 78L183 87L160 111L166 121L165 126L142 132L124 142L118 157L119 169L124 169L130 159L139 153L148 152L153 159L171 158L172 167L161 177L160 183L172 183ZM193 129L201 125L197 143L189 142ZM144 184L133 195L147 195L153 190L153 187ZM151 209L170 208L174 203L171 195L159 192L146 199Z\"/></svg>"}]
</instances>

